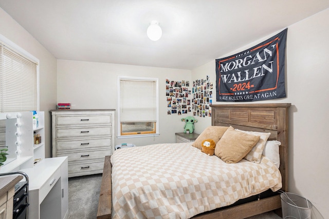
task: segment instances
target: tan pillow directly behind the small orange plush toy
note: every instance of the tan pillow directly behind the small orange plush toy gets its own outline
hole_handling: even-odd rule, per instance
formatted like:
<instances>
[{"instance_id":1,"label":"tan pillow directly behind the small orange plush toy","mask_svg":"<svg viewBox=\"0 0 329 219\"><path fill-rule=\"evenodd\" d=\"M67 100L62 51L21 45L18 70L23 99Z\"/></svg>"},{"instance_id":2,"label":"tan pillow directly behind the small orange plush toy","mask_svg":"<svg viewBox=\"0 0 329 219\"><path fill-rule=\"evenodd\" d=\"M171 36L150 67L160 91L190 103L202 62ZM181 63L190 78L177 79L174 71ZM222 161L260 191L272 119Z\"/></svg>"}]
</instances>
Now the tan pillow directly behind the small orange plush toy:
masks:
<instances>
[{"instance_id":1,"label":"tan pillow directly behind the small orange plush toy","mask_svg":"<svg viewBox=\"0 0 329 219\"><path fill-rule=\"evenodd\" d=\"M192 146L201 149L201 144L206 139L211 139L217 144L227 129L225 126L209 126L196 138Z\"/></svg>"}]
</instances>

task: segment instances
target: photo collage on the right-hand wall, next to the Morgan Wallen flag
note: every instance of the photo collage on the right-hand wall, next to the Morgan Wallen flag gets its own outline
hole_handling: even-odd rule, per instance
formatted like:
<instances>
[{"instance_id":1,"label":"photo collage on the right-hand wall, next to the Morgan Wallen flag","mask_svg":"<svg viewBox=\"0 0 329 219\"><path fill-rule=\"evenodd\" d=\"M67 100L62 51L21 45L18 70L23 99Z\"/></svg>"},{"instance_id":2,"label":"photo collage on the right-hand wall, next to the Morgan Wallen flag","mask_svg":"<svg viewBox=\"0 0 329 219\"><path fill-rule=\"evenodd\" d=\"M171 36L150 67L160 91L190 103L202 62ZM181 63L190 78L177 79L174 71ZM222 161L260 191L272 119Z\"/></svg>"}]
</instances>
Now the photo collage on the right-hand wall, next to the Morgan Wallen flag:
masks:
<instances>
[{"instance_id":1,"label":"photo collage on the right-hand wall, next to the Morgan Wallen flag","mask_svg":"<svg viewBox=\"0 0 329 219\"><path fill-rule=\"evenodd\" d=\"M192 87L192 111L193 116L211 117L213 84L209 81L209 75L206 79L197 79L193 81Z\"/></svg>"}]
</instances>

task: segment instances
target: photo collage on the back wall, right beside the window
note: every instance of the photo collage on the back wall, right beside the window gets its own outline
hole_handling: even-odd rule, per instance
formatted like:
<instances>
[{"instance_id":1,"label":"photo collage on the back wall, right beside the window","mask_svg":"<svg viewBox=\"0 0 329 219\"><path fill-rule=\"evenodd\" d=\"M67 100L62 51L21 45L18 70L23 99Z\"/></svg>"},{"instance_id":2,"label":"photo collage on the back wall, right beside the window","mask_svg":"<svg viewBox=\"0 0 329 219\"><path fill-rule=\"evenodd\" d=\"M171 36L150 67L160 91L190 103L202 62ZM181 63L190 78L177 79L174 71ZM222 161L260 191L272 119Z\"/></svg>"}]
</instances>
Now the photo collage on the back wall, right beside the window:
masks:
<instances>
[{"instance_id":1,"label":"photo collage on the back wall, right beside the window","mask_svg":"<svg viewBox=\"0 0 329 219\"><path fill-rule=\"evenodd\" d=\"M170 81L166 78L167 114L186 114L191 112L191 90L189 81Z\"/></svg>"}]
</instances>

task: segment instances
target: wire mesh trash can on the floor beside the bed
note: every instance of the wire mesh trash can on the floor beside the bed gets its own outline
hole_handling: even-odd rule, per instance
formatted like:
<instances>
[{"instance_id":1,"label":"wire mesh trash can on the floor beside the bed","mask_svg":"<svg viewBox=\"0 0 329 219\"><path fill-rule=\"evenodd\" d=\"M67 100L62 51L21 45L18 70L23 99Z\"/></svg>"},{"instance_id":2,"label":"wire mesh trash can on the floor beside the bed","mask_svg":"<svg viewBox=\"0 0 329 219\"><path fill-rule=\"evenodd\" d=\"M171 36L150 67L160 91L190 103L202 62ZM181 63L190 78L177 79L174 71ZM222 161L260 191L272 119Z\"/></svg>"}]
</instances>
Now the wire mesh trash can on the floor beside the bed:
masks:
<instances>
[{"instance_id":1,"label":"wire mesh trash can on the floor beside the bed","mask_svg":"<svg viewBox=\"0 0 329 219\"><path fill-rule=\"evenodd\" d=\"M312 203L300 195L283 192L280 194L283 219L310 219Z\"/></svg>"}]
</instances>

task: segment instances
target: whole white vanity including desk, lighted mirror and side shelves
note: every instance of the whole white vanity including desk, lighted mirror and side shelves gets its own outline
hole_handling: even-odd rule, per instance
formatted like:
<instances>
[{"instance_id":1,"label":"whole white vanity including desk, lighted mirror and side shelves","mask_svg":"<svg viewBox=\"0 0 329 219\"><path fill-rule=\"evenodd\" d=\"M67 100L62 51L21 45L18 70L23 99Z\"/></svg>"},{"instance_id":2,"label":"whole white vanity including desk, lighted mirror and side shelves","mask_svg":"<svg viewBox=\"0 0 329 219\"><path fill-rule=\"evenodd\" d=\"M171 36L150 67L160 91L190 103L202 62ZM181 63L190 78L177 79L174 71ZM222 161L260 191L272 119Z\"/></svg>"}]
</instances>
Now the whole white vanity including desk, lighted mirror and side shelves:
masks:
<instances>
[{"instance_id":1,"label":"whole white vanity including desk, lighted mirror and side shelves","mask_svg":"<svg viewBox=\"0 0 329 219\"><path fill-rule=\"evenodd\" d=\"M28 218L64 219L68 217L68 159L45 158L44 112L38 113L39 127L34 129L32 112L0 113L0 143L8 147L0 173L28 175ZM33 132L41 136L41 144L33 145ZM35 159L40 161L34 164Z\"/></svg>"}]
</instances>

